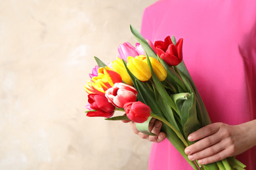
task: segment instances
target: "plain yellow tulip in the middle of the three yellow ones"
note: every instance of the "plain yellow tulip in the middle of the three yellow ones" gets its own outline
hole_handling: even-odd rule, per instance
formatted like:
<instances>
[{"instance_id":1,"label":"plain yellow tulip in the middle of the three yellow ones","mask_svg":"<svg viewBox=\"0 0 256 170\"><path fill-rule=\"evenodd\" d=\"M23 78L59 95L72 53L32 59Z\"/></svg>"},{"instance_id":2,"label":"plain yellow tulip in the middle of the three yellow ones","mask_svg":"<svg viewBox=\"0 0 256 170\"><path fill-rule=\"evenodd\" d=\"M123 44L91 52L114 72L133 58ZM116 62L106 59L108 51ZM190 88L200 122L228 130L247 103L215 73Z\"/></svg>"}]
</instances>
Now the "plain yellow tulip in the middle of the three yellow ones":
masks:
<instances>
[{"instance_id":1,"label":"plain yellow tulip in the middle of the three yellow ones","mask_svg":"<svg viewBox=\"0 0 256 170\"><path fill-rule=\"evenodd\" d=\"M127 67L133 75L142 82L146 82L150 79L151 72L150 67L147 63L142 61L140 58L127 58Z\"/></svg>"}]
</instances>

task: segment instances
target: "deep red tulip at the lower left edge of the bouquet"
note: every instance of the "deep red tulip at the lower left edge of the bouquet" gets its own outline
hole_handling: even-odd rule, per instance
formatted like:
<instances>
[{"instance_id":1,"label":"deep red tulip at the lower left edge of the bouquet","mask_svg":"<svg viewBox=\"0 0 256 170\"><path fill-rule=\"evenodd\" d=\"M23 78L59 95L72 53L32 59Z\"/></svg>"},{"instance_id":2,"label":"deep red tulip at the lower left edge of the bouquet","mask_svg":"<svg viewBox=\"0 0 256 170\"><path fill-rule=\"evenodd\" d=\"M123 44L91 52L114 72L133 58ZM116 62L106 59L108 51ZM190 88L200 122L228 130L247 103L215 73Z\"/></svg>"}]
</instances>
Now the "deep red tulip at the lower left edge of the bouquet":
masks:
<instances>
[{"instance_id":1,"label":"deep red tulip at the lower left edge of the bouquet","mask_svg":"<svg viewBox=\"0 0 256 170\"><path fill-rule=\"evenodd\" d=\"M91 93L88 95L88 103L91 109L96 110L88 112L87 116L89 117L100 116L110 118L116 109L112 103L108 102L108 99L104 95Z\"/></svg>"}]
</instances>

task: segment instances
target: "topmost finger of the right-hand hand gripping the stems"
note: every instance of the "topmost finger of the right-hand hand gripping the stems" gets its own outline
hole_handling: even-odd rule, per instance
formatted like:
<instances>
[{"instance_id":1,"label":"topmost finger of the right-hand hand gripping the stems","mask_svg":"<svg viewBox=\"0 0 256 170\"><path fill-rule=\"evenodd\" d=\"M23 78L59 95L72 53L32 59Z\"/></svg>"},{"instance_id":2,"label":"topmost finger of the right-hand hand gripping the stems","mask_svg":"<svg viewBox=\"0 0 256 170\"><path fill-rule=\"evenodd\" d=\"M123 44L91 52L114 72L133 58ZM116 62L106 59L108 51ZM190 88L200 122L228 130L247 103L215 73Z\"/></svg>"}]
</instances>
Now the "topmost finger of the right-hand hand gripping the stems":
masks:
<instances>
[{"instance_id":1,"label":"topmost finger of the right-hand hand gripping the stems","mask_svg":"<svg viewBox=\"0 0 256 170\"><path fill-rule=\"evenodd\" d=\"M198 141L199 139L216 133L219 131L219 129L220 125L218 123L204 126L201 129L198 129L197 131L188 135L188 141Z\"/></svg>"}]
</instances>

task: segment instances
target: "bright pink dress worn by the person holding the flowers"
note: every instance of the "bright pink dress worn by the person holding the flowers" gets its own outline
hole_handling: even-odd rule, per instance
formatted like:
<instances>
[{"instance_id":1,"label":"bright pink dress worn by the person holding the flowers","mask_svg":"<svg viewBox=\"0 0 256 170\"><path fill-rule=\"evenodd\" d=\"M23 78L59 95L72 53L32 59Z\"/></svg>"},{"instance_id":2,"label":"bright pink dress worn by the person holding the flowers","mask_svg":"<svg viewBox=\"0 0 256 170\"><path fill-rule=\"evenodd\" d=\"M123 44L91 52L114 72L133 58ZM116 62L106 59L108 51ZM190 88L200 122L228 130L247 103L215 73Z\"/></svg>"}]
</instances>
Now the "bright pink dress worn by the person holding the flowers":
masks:
<instances>
[{"instance_id":1,"label":"bright pink dress worn by the person holding the flowers","mask_svg":"<svg viewBox=\"0 0 256 170\"><path fill-rule=\"evenodd\" d=\"M162 0L144 10L142 35L184 39L183 56L212 122L256 118L256 1ZM256 169L256 147L237 156ZM150 170L192 169L167 139L152 145Z\"/></svg>"}]
</instances>

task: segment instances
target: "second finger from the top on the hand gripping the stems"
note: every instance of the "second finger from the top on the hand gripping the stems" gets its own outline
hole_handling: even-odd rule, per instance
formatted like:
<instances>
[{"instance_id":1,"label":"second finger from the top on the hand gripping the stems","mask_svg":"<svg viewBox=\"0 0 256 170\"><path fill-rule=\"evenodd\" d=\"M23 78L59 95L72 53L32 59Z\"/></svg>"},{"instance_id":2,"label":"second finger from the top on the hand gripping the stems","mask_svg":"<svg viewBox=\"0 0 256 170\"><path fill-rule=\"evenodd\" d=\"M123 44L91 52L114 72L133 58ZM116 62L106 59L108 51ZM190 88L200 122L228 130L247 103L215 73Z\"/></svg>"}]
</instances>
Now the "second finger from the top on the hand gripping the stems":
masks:
<instances>
[{"instance_id":1,"label":"second finger from the top on the hand gripping the stems","mask_svg":"<svg viewBox=\"0 0 256 170\"><path fill-rule=\"evenodd\" d=\"M213 144L219 143L220 141L221 141L221 136L215 133L186 147L184 152L185 154L194 154L196 152L199 152L200 150L203 150L205 148L208 148L209 146L212 146Z\"/></svg>"}]
</instances>

